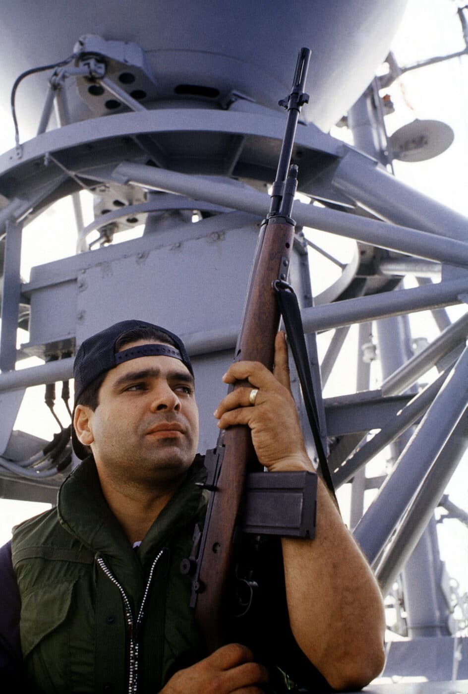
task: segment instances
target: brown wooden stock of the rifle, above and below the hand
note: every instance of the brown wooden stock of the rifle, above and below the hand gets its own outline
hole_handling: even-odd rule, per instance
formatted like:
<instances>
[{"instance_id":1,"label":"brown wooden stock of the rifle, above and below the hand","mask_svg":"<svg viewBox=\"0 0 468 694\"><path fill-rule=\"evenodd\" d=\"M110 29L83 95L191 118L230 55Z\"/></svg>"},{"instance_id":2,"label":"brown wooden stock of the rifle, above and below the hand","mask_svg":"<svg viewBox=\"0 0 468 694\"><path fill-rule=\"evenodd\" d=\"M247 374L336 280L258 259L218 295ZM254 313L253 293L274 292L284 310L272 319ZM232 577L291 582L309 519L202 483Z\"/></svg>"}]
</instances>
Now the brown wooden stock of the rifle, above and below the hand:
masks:
<instances>
[{"instance_id":1,"label":"brown wooden stock of the rifle, above and below the hand","mask_svg":"<svg viewBox=\"0 0 468 694\"><path fill-rule=\"evenodd\" d=\"M282 271L286 274L285 263L289 264L293 239L294 226L290 223L270 222L260 234L256 252L258 262L254 262L243 329L237 342L236 358L261 362L269 369L273 366L274 338L280 321L271 285ZM236 387L240 386L242 383ZM199 573L202 590L195 611L210 651L223 642L224 591L232 565L235 524L247 463L256 459L250 430L246 426L231 427L223 432L219 445L224 446L224 457L207 512L204 561Z\"/></svg>"}]
</instances>

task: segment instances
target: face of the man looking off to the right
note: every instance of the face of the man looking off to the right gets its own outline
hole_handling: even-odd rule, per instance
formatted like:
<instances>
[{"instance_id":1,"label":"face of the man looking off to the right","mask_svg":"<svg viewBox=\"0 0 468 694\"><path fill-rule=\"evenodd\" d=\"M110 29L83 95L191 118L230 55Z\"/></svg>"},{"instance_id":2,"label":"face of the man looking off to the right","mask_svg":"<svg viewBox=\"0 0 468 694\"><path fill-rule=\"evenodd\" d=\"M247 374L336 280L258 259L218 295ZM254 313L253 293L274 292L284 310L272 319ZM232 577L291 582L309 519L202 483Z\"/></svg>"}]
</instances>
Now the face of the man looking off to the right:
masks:
<instances>
[{"instance_id":1,"label":"face of the man looking off to the right","mask_svg":"<svg viewBox=\"0 0 468 694\"><path fill-rule=\"evenodd\" d=\"M149 341L124 349L141 344ZM194 380L174 357L137 357L111 369L99 390L99 405L88 415L99 474L116 482L171 482L185 473L197 452Z\"/></svg>"}]
</instances>

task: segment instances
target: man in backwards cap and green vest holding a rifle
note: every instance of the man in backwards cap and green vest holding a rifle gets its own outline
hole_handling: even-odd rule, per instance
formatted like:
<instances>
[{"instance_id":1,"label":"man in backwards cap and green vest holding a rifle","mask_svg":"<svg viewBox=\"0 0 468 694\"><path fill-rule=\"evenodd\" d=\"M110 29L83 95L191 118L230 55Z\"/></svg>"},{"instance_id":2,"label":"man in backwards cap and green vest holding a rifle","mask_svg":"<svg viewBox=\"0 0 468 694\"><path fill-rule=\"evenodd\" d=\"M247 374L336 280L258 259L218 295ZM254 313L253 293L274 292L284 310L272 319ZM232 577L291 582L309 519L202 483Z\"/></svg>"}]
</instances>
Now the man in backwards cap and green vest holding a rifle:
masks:
<instances>
[{"instance_id":1,"label":"man in backwards cap and green vest holding a rifle","mask_svg":"<svg viewBox=\"0 0 468 694\"><path fill-rule=\"evenodd\" d=\"M62 484L57 509L13 534L12 564L3 561L1 573L11 578L13 567L22 611L20 620L10 611L0 638L6 671L18 651L16 619L24 669L40 692L254 693L277 682L275 663L256 662L243 645L207 656L189 607L190 578L179 566L203 521L206 472L181 340L143 321L117 323L83 342L74 379L72 440L85 459ZM248 425L268 471L313 471L283 333L274 373L235 362L224 382L237 380L251 387L222 400L219 427ZM310 667L315 684L326 686L323 676L337 689L364 686L383 668L381 594L321 482L315 539L285 538L281 548L287 629L321 673ZM15 593L11 579L6 586ZM265 634L266 643L273 648L282 632Z\"/></svg>"}]
</instances>

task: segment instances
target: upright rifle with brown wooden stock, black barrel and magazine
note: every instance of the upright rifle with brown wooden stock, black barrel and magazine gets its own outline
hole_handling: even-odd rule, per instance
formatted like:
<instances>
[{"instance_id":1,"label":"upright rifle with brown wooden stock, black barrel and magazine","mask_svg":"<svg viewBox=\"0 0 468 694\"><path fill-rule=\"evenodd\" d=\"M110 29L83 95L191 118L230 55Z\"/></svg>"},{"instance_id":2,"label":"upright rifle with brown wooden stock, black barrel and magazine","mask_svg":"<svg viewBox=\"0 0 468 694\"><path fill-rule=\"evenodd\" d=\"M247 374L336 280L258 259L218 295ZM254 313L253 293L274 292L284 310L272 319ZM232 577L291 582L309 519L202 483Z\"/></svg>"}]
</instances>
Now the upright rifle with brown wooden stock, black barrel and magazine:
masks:
<instances>
[{"instance_id":1,"label":"upright rifle with brown wooden stock, black barrel and magazine","mask_svg":"<svg viewBox=\"0 0 468 694\"><path fill-rule=\"evenodd\" d=\"M279 102L287 109L285 136L271 192L271 207L260 228L235 348L236 360L261 362L270 370L274 338L280 324L274 284L287 280L294 241L291 213L298 167L290 165L290 160L299 112L309 99L304 92L309 60L310 50L301 49L292 91ZM234 387L245 384L249 385L239 382ZM247 426L231 427L219 434L216 448L207 452L206 467L208 480L204 486L211 491L206 521L203 532L196 529L192 555L182 562L181 570L192 575L190 604L212 652L224 642L222 623L226 617L226 591L233 569L237 529L312 537L317 479L315 473L249 473L260 466ZM299 504L283 503L286 513L280 517L274 511L278 506L278 489L283 498L288 490L292 491L296 501L297 491L301 492ZM271 503L268 503L271 492ZM294 518L286 518L287 514Z\"/></svg>"}]
</instances>

